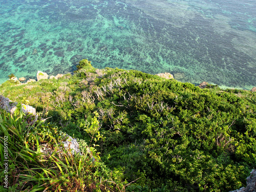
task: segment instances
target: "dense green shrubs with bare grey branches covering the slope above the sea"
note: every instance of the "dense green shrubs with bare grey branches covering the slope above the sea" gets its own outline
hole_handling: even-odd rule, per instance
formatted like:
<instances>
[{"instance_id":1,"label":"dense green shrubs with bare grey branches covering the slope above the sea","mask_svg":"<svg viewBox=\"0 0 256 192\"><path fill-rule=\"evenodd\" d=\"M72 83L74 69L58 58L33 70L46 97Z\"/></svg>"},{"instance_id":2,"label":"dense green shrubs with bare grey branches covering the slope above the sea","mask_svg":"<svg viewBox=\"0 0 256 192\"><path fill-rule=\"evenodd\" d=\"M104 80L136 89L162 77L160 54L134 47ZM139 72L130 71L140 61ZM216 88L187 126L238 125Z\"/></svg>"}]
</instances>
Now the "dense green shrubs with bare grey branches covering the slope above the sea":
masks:
<instances>
[{"instance_id":1,"label":"dense green shrubs with bare grey branches covering the slope above the sea","mask_svg":"<svg viewBox=\"0 0 256 192\"><path fill-rule=\"evenodd\" d=\"M108 177L115 183L97 190L230 191L246 184L256 166L255 93L98 70L85 60L77 68L58 80L12 87L8 81L0 94L29 100L42 118L51 117L44 124L50 132L58 127L90 143L98 167L118 173L90 169L94 183ZM80 184L86 178L73 177Z\"/></svg>"}]
</instances>

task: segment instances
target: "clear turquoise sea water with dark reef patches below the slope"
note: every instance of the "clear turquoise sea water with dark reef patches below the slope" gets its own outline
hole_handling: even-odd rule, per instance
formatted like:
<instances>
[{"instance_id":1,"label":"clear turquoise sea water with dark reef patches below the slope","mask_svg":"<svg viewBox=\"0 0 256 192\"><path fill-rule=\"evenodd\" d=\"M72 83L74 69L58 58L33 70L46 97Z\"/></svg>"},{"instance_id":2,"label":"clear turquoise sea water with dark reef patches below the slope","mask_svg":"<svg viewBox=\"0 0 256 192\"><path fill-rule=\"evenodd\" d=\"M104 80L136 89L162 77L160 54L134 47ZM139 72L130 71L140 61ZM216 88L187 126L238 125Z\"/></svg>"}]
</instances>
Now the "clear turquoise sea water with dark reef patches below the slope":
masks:
<instances>
[{"instance_id":1,"label":"clear turquoise sea water with dark reef patches below the slope","mask_svg":"<svg viewBox=\"0 0 256 192\"><path fill-rule=\"evenodd\" d=\"M180 81L256 86L256 3L0 0L0 83L69 73L88 58Z\"/></svg>"}]
</instances>

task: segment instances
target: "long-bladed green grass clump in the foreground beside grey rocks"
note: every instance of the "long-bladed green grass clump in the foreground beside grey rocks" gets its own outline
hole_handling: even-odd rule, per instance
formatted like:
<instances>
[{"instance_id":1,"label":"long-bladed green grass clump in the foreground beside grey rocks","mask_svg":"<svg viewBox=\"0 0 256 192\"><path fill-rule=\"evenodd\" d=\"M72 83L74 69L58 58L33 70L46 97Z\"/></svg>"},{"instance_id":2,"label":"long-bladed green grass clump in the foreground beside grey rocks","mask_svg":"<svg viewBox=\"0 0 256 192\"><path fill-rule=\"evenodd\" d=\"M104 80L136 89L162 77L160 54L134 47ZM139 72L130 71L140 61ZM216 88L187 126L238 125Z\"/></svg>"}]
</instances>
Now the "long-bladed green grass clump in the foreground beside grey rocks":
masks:
<instances>
[{"instance_id":1,"label":"long-bladed green grass clump in the foreground beside grey rocks","mask_svg":"<svg viewBox=\"0 0 256 192\"><path fill-rule=\"evenodd\" d=\"M29 117L22 110L13 114L0 110L1 183L8 176L8 188L2 185L1 191L113 191L123 187L122 174L111 172L94 147L89 152L81 142L81 155L68 155L60 147L63 137L57 126L44 121L29 125ZM40 153L44 143L52 149L51 155Z\"/></svg>"}]
</instances>

